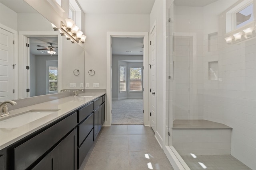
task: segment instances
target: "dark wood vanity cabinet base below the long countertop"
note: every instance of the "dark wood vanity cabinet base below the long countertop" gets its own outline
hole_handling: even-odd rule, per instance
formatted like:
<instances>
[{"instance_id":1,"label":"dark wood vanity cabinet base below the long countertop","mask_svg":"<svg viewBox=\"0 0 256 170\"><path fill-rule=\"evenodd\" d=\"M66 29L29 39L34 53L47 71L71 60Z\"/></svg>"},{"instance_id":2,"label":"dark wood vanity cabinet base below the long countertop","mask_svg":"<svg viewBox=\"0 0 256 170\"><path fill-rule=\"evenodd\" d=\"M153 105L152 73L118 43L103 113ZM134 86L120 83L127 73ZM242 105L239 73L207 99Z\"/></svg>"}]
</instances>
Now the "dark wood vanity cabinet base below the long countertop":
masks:
<instances>
[{"instance_id":1,"label":"dark wood vanity cabinet base below the long countertop","mask_svg":"<svg viewBox=\"0 0 256 170\"><path fill-rule=\"evenodd\" d=\"M105 95L0 150L0 170L77 170L105 121Z\"/></svg>"}]
</instances>

